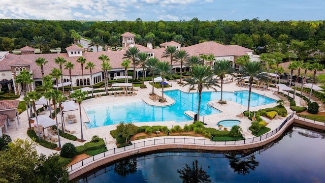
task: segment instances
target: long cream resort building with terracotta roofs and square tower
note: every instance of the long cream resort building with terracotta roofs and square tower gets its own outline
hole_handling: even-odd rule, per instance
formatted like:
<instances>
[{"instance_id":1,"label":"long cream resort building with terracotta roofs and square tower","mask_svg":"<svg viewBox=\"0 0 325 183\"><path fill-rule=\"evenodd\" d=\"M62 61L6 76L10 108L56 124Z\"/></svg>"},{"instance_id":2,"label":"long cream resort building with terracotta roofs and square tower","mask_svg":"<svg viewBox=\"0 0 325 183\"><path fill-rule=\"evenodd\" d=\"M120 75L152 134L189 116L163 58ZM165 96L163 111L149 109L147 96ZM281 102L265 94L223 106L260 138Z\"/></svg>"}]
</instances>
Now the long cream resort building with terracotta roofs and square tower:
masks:
<instances>
[{"instance_id":1,"label":"long cream resort building with terracotta roofs and square tower","mask_svg":"<svg viewBox=\"0 0 325 183\"><path fill-rule=\"evenodd\" d=\"M0 51L0 88L6 88L7 90L14 90L15 94L20 95L21 85L15 83L15 77L22 70L30 71L32 79L35 83L32 84L32 88L36 85L42 84L41 67L35 63L35 60L39 57L45 58L48 63L44 65L44 75L51 73L53 68L59 68L59 65L55 64L54 59L57 57L63 57L68 62L74 64L72 72L73 86L90 85L91 77L90 71L83 68L84 79L82 79L81 65L76 62L78 57L83 56L86 58L86 62L92 62L95 68L92 70L92 84L99 83L104 80L104 73L102 70L102 61L98 57L102 54L107 55L110 59L110 65L112 70L108 71L109 79L113 79L115 76L124 76L124 67L121 63L125 58L124 53L129 47L136 46L140 52L147 53L150 57L157 57L159 60L167 60L170 62L170 58L163 58L163 52L167 46L175 46L178 50L183 49L188 52L190 56L193 55L214 55L215 60L227 59L233 63L233 67L239 69L239 65L236 64L236 59L240 56L248 54L251 60L260 62L258 55L253 54L253 50L238 46L238 45L222 45L216 42L204 42L196 45L181 47L181 44L174 41L160 44L161 48L152 49L152 45L148 44L147 47L135 44L135 35L132 33L124 33L122 36L122 50L118 51L100 51L100 52L87 52L83 48L77 45L72 45L66 48L67 53L50 53L50 54L35 54L35 48L25 46L20 49L21 54L16 55L9 53L9 51ZM207 65L213 65L214 63L206 62ZM84 66L85 67L85 66ZM180 71L180 63L173 62L173 70L176 72ZM64 66L62 66L64 68ZM133 71L132 64L129 71ZM188 71L189 67L184 66L183 71ZM136 77L147 76L147 71L143 73L142 68L136 67ZM68 82L70 80L69 70L63 69L63 81ZM54 78L53 78L54 80ZM2 89L3 90L3 89Z\"/></svg>"}]
</instances>

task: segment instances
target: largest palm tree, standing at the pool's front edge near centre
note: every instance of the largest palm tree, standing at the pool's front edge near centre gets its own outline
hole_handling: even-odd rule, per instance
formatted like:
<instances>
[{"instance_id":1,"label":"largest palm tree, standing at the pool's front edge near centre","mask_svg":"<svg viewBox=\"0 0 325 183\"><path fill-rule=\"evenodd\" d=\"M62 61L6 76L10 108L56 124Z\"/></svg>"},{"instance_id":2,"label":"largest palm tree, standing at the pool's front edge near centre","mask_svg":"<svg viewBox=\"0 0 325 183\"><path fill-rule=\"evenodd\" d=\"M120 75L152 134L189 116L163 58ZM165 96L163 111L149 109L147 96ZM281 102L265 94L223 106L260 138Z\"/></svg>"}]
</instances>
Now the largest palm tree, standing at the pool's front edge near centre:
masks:
<instances>
[{"instance_id":1,"label":"largest palm tree, standing at the pool's front edge near centre","mask_svg":"<svg viewBox=\"0 0 325 183\"><path fill-rule=\"evenodd\" d=\"M186 78L186 83L181 84L181 86L190 85L195 86L198 85L199 92L199 104L198 104L198 118L200 120L200 107L201 107L201 94L203 88L213 88L212 86L218 86L216 79L213 78L213 71L210 66L202 66L202 65L193 65L191 71L189 72L190 78Z\"/></svg>"}]
</instances>

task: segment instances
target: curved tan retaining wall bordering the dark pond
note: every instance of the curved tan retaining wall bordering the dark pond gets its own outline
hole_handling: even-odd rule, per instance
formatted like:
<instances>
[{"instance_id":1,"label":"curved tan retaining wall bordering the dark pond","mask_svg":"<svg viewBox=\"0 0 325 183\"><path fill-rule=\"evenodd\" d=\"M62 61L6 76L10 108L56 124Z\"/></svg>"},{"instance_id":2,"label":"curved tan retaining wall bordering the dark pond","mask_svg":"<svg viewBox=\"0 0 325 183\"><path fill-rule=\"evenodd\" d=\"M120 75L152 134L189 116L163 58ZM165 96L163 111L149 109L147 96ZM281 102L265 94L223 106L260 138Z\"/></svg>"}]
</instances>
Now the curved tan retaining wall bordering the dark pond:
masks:
<instances>
[{"instance_id":1,"label":"curved tan retaining wall bordering the dark pond","mask_svg":"<svg viewBox=\"0 0 325 183\"><path fill-rule=\"evenodd\" d=\"M291 114L293 115L293 114ZM205 139L205 138L186 138L186 137L172 137L174 138L174 143L165 143L165 139L166 138L160 138L160 139L164 139L164 144L155 144L156 140L158 138L150 138L150 139L142 139L141 141L152 141L152 139L156 139L153 140L154 144L151 145L147 145L147 146L141 146L141 147L136 147L136 144L134 144L134 148L129 149L129 150L123 150L119 153L115 153L115 148L114 148L114 154L112 155L108 155L104 156L102 155L102 157L100 157L100 155L96 155L93 156L92 158L88 158L88 159L92 159L92 161L89 162L81 162L81 166L74 169L73 167L69 167L69 171L70 171L70 175L69 175L69 179L72 180L88 171L91 171L92 169L105 165L107 163L119 160L119 159L123 159L126 158L128 156L132 156L132 155L136 155L136 154L142 154L142 153L148 153L150 151L156 151L156 150L160 150L160 149L200 149L200 150L242 150L242 149L249 149L249 148L255 148L255 147L259 147L259 146L263 146L265 144L268 144L274 140L276 140L277 138L279 138L287 128L289 128L292 124L299 124L302 126L306 126L306 127L310 127L310 128L314 128L314 129L318 129L318 130L325 130L325 126L318 124L318 123L312 123L311 121L307 121L307 120L303 120L303 119L299 119L298 116L293 116L291 117L291 115L287 118L288 120L286 121L286 123L283 124L282 127L280 127L279 131L277 131L275 134L272 134L272 136L267 137L266 139L260 140L260 141L256 141L256 142L251 142L251 143L245 143L245 144L216 144L216 142L211 142L210 139ZM171 139L172 139L171 138ZM179 142L175 142L175 139L184 139L184 143L179 143ZM262 139L262 137L261 137ZM190 142L186 142L185 144L185 140L195 140L197 141L202 141L204 140L204 144L193 144ZM140 141L140 140L139 140ZM137 143L140 143L140 142ZM209 143L208 143L209 142ZM124 148L125 149L125 148ZM102 153L103 154L103 153ZM96 160L95 160L96 159ZM79 162L80 163L80 162Z\"/></svg>"}]
</instances>

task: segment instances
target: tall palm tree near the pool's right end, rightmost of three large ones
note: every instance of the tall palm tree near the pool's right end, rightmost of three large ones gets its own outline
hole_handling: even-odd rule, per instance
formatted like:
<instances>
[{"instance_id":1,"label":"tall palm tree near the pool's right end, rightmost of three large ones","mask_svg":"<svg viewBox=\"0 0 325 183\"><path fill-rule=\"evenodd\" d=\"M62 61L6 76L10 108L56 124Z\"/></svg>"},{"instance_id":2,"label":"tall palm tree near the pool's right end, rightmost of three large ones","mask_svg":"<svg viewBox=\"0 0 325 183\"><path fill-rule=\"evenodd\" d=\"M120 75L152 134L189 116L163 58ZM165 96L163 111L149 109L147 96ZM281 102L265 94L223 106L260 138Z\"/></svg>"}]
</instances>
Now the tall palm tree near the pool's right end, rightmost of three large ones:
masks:
<instances>
[{"instance_id":1,"label":"tall palm tree near the pool's right end, rightmost of three large ones","mask_svg":"<svg viewBox=\"0 0 325 183\"><path fill-rule=\"evenodd\" d=\"M239 75L237 79L240 81L243 81L245 78L248 77L248 83L249 83L249 93L248 93L248 106L247 111L249 111L249 105L250 105L250 94L252 90L252 84L255 78L258 78L260 81L268 81L268 78L265 73L262 73L264 71L263 65L258 62L246 62L246 64L242 67L242 69L239 71Z\"/></svg>"}]
</instances>

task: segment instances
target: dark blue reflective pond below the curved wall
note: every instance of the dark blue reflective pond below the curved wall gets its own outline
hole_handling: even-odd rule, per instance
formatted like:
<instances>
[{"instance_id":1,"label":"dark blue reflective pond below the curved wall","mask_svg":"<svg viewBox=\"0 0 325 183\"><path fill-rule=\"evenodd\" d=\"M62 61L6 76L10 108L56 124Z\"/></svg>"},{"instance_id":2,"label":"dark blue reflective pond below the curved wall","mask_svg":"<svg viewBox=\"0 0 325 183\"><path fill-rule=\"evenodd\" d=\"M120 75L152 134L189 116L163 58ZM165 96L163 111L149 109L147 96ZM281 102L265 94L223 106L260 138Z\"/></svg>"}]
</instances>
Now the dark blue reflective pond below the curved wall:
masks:
<instances>
[{"instance_id":1,"label":"dark blue reflective pond below the curved wall","mask_svg":"<svg viewBox=\"0 0 325 183\"><path fill-rule=\"evenodd\" d=\"M205 180L202 182L325 182L324 137L323 133L293 127L281 139L259 149L165 151L122 160L73 181L198 182L192 177L200 177Z\"/></svg>"}]
</instances>

